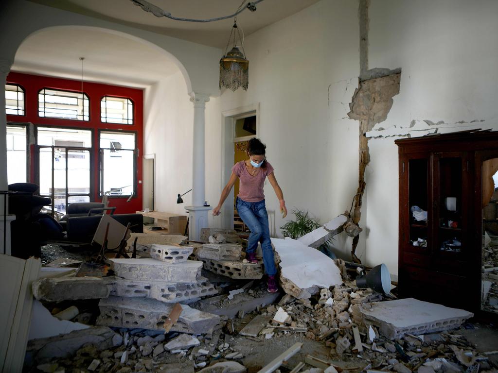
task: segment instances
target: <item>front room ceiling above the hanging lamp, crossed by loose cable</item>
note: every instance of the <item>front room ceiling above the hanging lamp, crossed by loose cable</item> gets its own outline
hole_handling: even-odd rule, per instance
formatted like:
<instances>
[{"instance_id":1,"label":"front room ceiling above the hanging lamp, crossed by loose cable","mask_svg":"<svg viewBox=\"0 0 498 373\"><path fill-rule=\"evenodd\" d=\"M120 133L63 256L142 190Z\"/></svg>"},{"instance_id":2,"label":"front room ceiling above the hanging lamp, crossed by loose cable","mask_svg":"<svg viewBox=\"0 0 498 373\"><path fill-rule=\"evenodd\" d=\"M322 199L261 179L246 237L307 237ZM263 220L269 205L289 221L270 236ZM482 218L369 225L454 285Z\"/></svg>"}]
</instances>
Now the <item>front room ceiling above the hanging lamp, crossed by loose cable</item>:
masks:
<instances>
[{"instance_id":1,"label":"front room ceiling above the hanging lamp, crossed by loose cable","mask_svg":"<svg viewBox=\"0 0 498 373\"><path fill-rule=\"evenodd\" d=\"M233 18L215 22L184 22L158 18L130 0L30 0L88 16L109 20L195 43L224 49ZM237 23L245 35L286 18L318 0L264 0L255 12L244 10ZM149 0L175 17L207 19L235 13L241 0Z\"/></svg>"}]
</instances>

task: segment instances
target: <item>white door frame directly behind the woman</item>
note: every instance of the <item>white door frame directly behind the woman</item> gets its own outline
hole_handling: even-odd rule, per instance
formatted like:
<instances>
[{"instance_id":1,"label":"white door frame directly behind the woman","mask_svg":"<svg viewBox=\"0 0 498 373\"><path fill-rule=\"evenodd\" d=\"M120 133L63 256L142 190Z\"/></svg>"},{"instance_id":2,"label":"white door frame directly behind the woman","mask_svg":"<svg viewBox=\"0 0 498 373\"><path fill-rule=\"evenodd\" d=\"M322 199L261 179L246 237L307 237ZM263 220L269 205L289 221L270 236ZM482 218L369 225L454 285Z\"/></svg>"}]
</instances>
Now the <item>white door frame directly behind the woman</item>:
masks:
<instances>
[{"instance_id":1,"label":"white door frame directly behind the woman","mask_svg":"<svg viewBox=\"0 0 498 373\"><path fill-rule=\"evenodd\" d=\"M235 121L237 119L246 118L248 116L256 116L256 136L260 136L259 132L259 102L237 107L232 110L222 111L221 113L221 185L225 187L232 175L232 167L234 166L234 143L246 141L254 136L234 137ZM234 229L234 189L230 191L223 207L221 209L221 227L225 229Z\"/></svg>"}]
</instances>

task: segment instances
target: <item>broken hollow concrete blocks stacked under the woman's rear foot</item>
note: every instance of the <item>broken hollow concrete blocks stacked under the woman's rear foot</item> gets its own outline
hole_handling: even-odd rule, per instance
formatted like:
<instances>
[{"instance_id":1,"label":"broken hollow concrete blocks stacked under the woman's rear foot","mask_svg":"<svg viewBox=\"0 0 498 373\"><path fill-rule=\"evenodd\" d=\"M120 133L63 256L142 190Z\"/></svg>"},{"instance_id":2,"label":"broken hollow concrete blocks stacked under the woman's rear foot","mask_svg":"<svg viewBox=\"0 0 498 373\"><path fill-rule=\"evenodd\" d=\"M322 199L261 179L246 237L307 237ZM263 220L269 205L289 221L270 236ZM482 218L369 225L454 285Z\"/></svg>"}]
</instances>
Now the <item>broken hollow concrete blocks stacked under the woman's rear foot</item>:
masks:
<instances>
[{"instance_id":1,"label":"broken hollow concrete blocks stacked under the woman's rear foot","mask_svg":"<svg viewBox=\"0 0 498 373\"><path fill-rule=\"evenodd\" d=\"M245 263L242 246L237 244L204 244L196 250L204 268L219 275L238 280L258 280L263 277L262 264Z\"/></svg>"}]
</instances>

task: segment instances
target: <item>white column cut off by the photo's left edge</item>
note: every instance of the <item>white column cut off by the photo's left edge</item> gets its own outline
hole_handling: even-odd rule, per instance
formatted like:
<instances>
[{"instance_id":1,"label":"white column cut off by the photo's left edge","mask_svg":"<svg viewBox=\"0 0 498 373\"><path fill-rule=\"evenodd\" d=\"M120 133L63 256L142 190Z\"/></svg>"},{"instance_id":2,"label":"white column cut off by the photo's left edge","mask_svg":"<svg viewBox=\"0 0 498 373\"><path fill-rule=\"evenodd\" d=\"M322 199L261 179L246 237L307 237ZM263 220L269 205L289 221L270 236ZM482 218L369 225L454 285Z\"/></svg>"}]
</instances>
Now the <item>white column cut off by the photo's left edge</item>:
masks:
<instances>
[{"instance_id":1,"label":"white column cut off by the photo's left edge","mask_svg":"<svg viewBox=\"0 0 498 373\"><path fill-rule=\"evenodd\" d=\"M0 190L7 190L7 119L5 117L5 83L12 63L0 60ZM14 216L3 219L3 195L0 195L0 254L10 254L10 221ZM8 213L8 211L7 211ZM3 224L5 223L5 247L3 247Z\"/></svg>"}]
</instances>

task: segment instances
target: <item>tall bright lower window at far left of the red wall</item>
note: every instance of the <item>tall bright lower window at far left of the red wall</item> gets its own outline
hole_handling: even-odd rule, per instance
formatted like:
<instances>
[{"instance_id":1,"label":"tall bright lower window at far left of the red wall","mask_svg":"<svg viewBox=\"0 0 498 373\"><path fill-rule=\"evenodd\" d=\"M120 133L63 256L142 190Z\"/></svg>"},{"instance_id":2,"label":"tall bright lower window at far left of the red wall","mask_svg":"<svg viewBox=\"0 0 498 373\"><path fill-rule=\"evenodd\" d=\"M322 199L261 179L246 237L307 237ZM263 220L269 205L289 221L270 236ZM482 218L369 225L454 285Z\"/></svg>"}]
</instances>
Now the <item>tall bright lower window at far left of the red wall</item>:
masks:
<instances>
[{"instance_id":1,"label":"tall bright lower window at far left of the red wall","mask_svg":"<svg viewBox=\"0 0 498 373\"><path fill-rule=\"evenodd\" d=\"M26 183L26 127L7 125L7 183Z\"/></svg>"}]
</instances>

